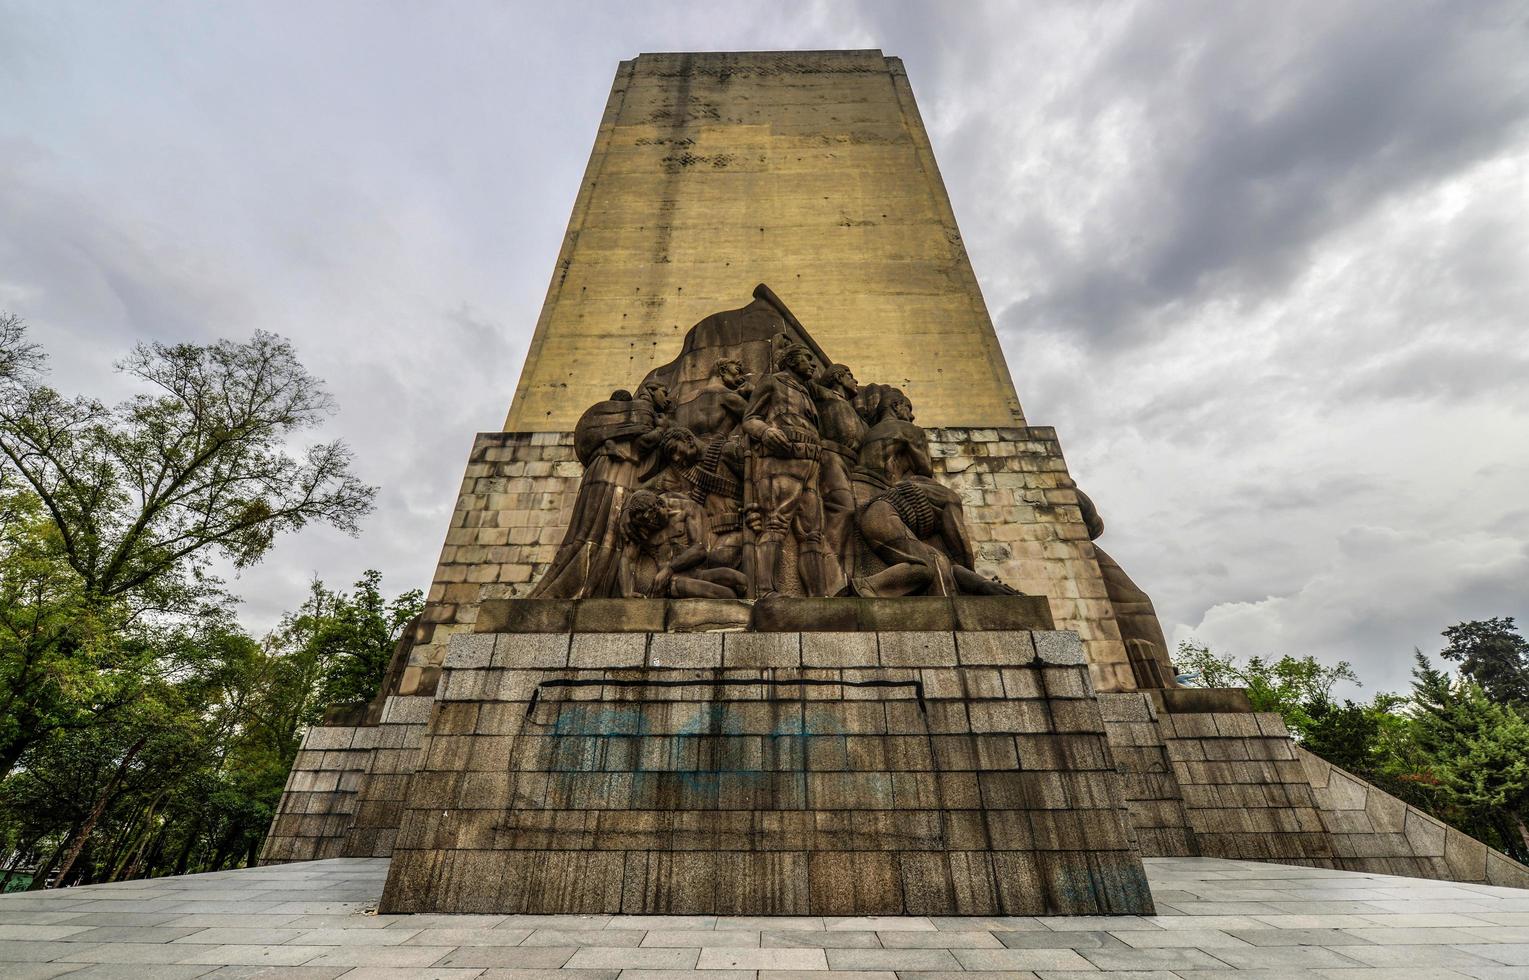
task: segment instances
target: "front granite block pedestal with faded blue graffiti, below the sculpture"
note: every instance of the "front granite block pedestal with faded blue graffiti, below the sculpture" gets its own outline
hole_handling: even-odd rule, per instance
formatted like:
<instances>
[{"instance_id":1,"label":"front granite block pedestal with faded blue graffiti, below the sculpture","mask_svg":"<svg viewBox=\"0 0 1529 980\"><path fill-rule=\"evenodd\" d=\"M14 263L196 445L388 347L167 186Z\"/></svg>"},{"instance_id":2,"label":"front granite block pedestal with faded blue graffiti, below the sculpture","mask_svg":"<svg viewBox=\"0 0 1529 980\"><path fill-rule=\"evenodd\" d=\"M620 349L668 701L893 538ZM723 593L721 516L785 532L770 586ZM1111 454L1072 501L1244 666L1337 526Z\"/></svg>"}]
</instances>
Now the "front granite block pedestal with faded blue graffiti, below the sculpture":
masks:
<instances>
[{"instance_id":1,"label":"front granite block pedestal with faded blue graffiti, below the sculpture","mask_svg":"<svg viewBox=\"0 0 1529 980\"><path fill-rule=\"evenodd\" d=\"M385 911L1148 911L1076 638L451 641Z\"/></svg>"}]
</instances>

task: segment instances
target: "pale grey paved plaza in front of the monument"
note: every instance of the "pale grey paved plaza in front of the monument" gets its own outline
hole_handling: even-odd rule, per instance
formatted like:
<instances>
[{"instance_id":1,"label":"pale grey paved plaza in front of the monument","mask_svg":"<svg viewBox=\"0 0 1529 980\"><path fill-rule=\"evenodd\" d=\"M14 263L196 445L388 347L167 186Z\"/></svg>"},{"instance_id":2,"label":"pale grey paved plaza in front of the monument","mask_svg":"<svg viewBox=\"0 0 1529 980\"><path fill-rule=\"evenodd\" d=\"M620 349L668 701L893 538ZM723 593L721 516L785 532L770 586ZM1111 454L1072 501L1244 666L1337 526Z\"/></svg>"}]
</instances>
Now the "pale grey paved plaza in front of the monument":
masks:
<instances>
[{"instance_id":1,"label":"pale grey paved plaza in front of the monument","mask_svg":"<svg viewBox=\"0 0 1529 980\"><path fill-rule=\"evenodd\" d=\"M1157 916L378 916L385 859L0 897L9 980L1529 978L1529 891L1148 858Z\"/></svg>"}]
</instances>

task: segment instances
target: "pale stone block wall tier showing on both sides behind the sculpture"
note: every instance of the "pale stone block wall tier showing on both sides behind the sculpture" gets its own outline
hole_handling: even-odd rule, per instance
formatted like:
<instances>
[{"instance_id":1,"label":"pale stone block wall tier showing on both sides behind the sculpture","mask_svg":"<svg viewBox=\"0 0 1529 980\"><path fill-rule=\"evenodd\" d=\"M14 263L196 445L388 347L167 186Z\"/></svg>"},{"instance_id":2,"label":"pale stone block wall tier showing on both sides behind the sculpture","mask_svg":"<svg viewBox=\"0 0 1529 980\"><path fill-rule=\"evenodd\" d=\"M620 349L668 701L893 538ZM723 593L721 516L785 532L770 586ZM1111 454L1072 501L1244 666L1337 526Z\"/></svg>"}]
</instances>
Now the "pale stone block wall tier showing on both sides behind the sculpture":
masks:
<instances>
[{"instance_id":1,"label":"pale stone block wall tier showing on both sides behind the sculpture","mask_svg":"<svg viewBox=\"0 0 1529 980\"><path fill-rule=\"evenodd\" d=\"M963 500L979 570L1046 596L1058 628L1083 638L1099 691L1135 690L1057 433L930 430L939 475ZM428 593L430 639L410 654L398 694L430 694L454 634L483 599L523 596L563 540L583 468L572 433L480 433Z\"/></svg>"}]
</instances>

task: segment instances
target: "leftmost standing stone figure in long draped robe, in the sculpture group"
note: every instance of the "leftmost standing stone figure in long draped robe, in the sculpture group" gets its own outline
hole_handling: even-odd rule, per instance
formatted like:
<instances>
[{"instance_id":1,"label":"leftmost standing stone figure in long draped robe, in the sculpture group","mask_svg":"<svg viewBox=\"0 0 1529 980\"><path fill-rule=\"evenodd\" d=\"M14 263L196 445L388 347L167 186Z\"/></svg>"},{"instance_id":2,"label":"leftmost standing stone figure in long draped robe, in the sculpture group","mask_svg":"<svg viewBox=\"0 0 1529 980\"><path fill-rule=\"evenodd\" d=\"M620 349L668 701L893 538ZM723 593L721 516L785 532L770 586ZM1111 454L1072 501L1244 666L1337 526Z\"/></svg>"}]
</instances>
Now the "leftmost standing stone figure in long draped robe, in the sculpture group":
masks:
<instances>
[{"instance_id":1,"label":"leftmost standing stone figure in long draped robe, in the sculpture group","mask_svg":"<svg viewBox=\"0 0 1529 980\"><path fill-rule=\"evenodd\" d=\"M532 596L583 599L616 595L622 552L618 521L627 494L641 479L644 457L662 442L668 408L668 387L647 384L638 398L618 388L579 417L573 449L584 463L584 477L563 544Z\"/></svg>"}]
</instances>

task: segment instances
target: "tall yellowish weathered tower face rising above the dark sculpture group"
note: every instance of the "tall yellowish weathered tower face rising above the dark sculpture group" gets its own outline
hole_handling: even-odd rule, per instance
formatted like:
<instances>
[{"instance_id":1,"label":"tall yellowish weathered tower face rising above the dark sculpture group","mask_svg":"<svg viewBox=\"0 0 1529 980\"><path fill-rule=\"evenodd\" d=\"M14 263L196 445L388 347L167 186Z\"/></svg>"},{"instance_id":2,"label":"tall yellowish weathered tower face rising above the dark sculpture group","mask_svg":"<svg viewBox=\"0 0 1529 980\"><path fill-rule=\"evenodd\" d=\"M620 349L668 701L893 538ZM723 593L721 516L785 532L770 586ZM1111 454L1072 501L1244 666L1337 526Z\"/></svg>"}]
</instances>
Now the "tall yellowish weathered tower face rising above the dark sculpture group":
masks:
<instances>
[{"instance_id":1,"label":"tall yellowish weathered tower face rising above the dark sculpture group","mask_svg":"<svg viewBox=\"0 0 1529 980\"><path fill-rule=\"evenodd\" d=\"M1024 423L902 63L833 50L621 64L505 428L573 428L760 281L924 425Z\"/></svg>"}]
</instances>

